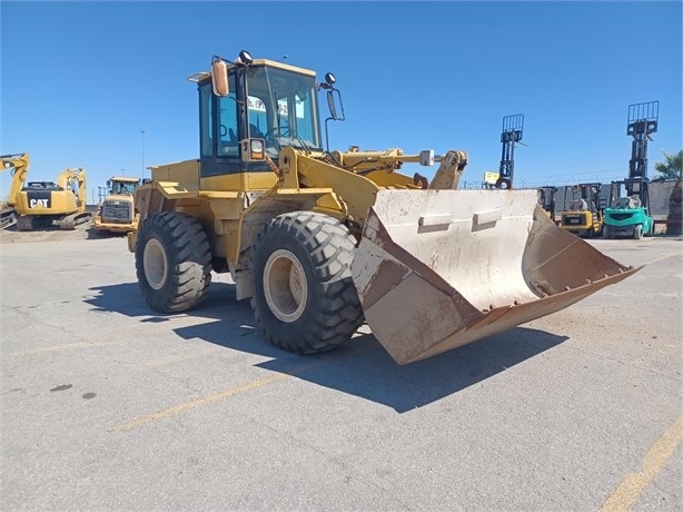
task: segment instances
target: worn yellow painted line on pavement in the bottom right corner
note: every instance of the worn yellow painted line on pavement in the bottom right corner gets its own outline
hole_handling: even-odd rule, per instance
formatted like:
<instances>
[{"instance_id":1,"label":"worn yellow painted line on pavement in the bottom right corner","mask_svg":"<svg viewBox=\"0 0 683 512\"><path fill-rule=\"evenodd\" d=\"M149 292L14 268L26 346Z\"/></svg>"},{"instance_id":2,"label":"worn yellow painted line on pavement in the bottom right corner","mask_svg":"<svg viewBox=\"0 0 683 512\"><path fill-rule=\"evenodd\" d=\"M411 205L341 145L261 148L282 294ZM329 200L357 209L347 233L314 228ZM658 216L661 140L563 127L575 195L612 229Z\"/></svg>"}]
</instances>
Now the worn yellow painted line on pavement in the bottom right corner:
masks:
<instances>
[{"instance_id":1,"label":"worn yellow painted line on pavement in the bottom right corner","mask_svg":"<svg viewBox=\"0 0 683 512\"><path fill-rule=\"evenodd\" d=\"M645 488L662 471L682 441L683 415L679 416L647 451L645 459L643 459L643 471L627 474L602 505L601 512L630 510Z\"/></svg>"}]
</instances>

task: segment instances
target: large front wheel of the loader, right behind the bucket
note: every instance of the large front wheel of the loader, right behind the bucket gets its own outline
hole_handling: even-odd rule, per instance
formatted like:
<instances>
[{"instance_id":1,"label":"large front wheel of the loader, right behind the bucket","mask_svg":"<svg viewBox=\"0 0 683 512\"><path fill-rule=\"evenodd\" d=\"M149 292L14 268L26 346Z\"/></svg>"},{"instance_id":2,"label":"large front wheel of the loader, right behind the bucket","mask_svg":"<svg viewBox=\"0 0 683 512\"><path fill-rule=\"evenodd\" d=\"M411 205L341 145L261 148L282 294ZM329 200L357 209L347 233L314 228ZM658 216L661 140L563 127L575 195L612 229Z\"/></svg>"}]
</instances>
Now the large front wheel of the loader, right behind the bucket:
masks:
<instances>
[{"instance_id":1,"label":"large front wheel of the loader, right behind the bucket","mask_svg":"<svg viewBox=\"0 0 683 512\"><path fill-rule=\"evenodd\" d=\"M363 323L350 264L356 242L336 219L283 214L257 237L251 254L251 308L274 345L297 354L330 351Z\"/></svg>"}]
</instances>

